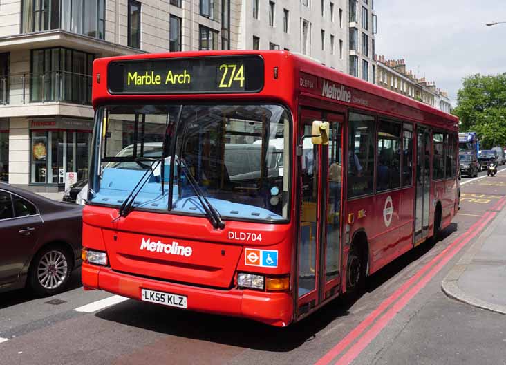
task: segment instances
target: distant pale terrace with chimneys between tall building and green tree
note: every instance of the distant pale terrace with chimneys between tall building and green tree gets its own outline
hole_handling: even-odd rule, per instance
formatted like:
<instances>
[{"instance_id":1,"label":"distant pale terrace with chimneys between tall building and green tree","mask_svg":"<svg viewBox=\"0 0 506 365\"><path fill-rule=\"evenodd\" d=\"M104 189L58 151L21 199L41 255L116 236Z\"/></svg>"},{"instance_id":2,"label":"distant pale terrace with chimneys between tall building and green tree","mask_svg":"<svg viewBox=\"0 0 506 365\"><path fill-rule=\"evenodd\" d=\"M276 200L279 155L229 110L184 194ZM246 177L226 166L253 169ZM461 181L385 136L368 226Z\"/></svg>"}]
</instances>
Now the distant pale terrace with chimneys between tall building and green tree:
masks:
<instances>
[{"instance_id":1,"label":"distant pale terrace with chimneys between tall building and green tree","mask_svg":"<svg viewBox=\"0 0 506 365\"><path fill-rule=\"evenodd\" d=\"M413 71L406 69L404 59L385 59L384 56L376 56L376 59L376 83L379 86L450 113L451 102L447 93L425 77L418 79Z\"/></svg>"}]
</instances>

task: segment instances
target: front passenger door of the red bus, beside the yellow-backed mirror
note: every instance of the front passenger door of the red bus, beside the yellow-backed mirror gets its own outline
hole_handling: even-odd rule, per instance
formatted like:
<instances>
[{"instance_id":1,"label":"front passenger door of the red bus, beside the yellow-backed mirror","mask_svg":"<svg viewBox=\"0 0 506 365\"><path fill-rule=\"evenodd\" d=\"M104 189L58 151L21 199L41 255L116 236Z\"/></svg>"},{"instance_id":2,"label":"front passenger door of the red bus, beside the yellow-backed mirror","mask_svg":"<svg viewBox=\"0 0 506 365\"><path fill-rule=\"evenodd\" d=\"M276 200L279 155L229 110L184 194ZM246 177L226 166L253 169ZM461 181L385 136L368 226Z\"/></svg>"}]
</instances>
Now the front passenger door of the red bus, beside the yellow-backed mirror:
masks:
<instances>
[{"instance_id":1,"label":"front passenger door of the red bus, beside the yellow-backed mirror","mask_svg":"<svg viewBox=\"0 0 506 365\"><path fill-rule=\"evenodd\" d=\"M339 285L341 169L340 165L332 164L342 159L342 117L302 109L299 141L303 135L311 135L314 120L328 120L330 135L329 144L325 146L313 145L311 138L305 138L298 157L297 316L337 292Z\"/></svg>"}]
</instances>

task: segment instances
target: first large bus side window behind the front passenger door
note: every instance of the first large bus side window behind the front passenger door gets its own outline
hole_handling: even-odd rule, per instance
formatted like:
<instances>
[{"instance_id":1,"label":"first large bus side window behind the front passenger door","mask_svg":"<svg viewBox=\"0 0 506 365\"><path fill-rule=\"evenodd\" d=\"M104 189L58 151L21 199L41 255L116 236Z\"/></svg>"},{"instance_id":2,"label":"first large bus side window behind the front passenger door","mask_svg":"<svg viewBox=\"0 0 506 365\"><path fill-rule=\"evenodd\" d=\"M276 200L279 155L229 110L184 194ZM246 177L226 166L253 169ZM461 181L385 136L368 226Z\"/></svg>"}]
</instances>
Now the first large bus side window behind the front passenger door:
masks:
<instances>
[{"instance_id":1,"label":"first large bus side window behind the front passenger door","mask_svg":"<svg viewBox=\"0 0 506 365\"><path fill-rule=\"evenodd\" d=\"M350 113L348 125L348 198L353 198L373 193L374 117Z\"/></svg>"}]
</instances>

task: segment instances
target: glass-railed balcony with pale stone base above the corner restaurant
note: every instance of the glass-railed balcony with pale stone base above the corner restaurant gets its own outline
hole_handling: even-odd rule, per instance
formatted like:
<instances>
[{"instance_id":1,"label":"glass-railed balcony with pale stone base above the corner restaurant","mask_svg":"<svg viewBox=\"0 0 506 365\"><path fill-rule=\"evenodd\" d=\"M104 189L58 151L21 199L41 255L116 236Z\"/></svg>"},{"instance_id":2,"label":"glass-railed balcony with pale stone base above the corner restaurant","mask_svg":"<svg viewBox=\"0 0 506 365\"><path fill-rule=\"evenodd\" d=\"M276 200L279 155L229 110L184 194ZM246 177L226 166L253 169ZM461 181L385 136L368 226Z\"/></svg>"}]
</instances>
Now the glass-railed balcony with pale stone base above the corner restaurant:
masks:
<instances>
[{"instance_id":1,"label":"glass-railed balcony with pale stone base above the corner restaurant","mask_svg":"<svg viewBox=\"0 0 506 365\"><path fill-rule=\"evenodd\" d=\"M93 118L91 75L53 71L0 77L0 118L69 115Z\"/></svg>"}]
</instances>

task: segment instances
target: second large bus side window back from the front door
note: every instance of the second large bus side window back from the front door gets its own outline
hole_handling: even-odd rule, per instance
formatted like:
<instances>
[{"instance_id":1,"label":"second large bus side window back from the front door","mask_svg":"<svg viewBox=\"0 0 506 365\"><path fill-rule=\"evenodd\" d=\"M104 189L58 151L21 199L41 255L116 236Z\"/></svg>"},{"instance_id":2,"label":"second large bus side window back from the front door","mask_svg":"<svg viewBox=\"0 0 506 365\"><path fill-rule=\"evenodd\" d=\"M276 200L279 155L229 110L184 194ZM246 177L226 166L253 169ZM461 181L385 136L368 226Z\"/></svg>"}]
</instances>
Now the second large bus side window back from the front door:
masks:
<instances>
[{"instance_id":1,"label":"second large bus side window back from the front door","mask_svg":"<svg viewBox=\"0 0 506 365\"><path fill-rule=\"evenodd\" d=\"M385 120L379 122L377 131L377 191L400 187L400 135L400 124Z\"/></svg>"}]
</instances>

